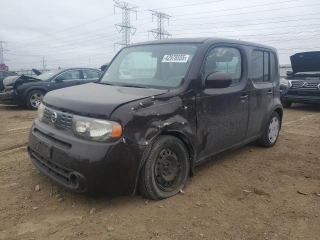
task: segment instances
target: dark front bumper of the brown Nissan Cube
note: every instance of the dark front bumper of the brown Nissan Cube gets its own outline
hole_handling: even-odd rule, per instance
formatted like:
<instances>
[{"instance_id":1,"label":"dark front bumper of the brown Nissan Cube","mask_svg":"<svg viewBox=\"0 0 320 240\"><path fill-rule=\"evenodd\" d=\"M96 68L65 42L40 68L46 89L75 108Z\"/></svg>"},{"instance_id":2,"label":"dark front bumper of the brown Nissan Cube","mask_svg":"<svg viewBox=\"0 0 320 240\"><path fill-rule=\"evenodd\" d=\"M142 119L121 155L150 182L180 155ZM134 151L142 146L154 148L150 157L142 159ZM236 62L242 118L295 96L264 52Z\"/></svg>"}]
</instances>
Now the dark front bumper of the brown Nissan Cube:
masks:
<instances>
[{"instance_id":1,"label":"dark front bumper of the brown Nissan Cube","mask_svg":"<svg viewBox=\"0 0 320 240\"><path fill-rule=\"evenodd\" d=\"M50 154L39 144L51 146ZM70 129L46 121L34 121L28 141L33 164L60 185L91 196L132 195L144 152L128 139L112 143L76 137Z\"/></svg>"}]
</instances>

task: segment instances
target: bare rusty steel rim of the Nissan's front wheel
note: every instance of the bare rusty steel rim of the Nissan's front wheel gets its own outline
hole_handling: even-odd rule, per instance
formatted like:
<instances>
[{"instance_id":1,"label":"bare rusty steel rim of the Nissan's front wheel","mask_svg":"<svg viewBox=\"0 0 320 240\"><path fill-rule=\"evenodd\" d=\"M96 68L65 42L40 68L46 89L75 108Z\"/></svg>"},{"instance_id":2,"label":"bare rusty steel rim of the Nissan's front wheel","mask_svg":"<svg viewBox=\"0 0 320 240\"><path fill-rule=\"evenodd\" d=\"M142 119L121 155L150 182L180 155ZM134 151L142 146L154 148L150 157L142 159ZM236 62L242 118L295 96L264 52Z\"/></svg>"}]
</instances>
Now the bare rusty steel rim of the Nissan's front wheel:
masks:
<instances>
[{"instance_id":1,"label":"bare rusty steel rim of the Nissan's front wheel","mask_svg":"<svg viewBox=\"0 0 320 240\"><path fill-rule=\"evenodd\" d=\"M154 164L157 186L163 191L171 191L180 181L181 163L173 149L163 149Z\"/></svg>"}]
</instances>

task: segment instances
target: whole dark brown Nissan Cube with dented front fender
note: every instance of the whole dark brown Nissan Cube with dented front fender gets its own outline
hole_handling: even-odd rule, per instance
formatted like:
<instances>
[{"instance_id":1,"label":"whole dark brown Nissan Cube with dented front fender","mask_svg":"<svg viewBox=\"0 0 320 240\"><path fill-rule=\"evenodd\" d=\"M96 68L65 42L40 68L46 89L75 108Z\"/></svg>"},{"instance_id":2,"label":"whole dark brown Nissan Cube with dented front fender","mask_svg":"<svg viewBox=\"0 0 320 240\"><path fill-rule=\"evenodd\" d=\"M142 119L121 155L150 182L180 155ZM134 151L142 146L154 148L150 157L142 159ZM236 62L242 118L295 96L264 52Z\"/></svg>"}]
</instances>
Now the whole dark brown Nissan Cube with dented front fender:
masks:
<instances>
[{"instance_id":1,"label":"whole dark brown Nissan Cube with dented front fender","mask_svg":"<svg viewBox=\"0 0 320 240\"><path fill-rule=\"evenodd\" d=\"M194 167L281 127L272 47L179 38L122 48L96 83L48 92L29 133L33 164L87 195L162 199Z\"/></svg>"}]
</instances>

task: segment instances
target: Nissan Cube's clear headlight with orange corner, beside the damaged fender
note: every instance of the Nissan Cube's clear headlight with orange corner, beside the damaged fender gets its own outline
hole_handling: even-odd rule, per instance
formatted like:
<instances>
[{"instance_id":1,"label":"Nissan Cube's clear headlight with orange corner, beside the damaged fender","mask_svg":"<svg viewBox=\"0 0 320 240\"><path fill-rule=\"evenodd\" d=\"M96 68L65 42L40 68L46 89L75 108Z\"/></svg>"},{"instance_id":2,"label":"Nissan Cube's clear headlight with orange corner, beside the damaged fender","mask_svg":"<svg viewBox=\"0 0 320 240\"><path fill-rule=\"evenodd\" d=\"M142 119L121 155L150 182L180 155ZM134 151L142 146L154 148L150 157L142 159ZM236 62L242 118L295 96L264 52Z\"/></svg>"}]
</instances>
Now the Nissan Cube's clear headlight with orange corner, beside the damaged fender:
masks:
<instances>
[{"instance_id":1,"label":"Nissan Cube's clear headlight with orange corner, beside the damaged fender","mask_svg":"<svg viewBox=\"0 0 320 240\"><path fill-rule=\"evenodd\" d=\"M115 140L122 135L122 126L115 121L77 115L72 117L71 129L79 137L96 141Z\"/></svg>"}]
</instances>

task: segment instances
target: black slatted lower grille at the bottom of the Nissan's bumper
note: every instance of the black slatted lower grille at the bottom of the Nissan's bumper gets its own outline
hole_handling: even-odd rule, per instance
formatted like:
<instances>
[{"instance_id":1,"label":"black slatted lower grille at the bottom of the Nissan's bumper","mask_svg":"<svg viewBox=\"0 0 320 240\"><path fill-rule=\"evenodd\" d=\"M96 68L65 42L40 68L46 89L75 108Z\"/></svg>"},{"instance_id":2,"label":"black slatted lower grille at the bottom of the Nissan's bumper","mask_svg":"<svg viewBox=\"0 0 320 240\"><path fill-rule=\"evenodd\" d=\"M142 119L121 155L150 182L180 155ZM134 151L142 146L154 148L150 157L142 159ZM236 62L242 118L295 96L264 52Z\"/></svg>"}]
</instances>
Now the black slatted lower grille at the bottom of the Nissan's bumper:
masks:
<instances>
[{"instance_id":1,"label":"black slatted lower grille at the bottom of the Nissan's bumper","mask_svg":"<svg viewBox=\"0 0 320 240\"><path fill-rule=\"evenodd\" d=\"M44 159L44 157L37 154L35 151L30 149L30 155L33 163L39 167L41 170L52 176L54 179L58 180L64 185L69 185L69 171L65 168L62 168L54 162Z\"/></svg>"}]
</instances>

